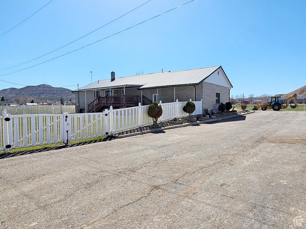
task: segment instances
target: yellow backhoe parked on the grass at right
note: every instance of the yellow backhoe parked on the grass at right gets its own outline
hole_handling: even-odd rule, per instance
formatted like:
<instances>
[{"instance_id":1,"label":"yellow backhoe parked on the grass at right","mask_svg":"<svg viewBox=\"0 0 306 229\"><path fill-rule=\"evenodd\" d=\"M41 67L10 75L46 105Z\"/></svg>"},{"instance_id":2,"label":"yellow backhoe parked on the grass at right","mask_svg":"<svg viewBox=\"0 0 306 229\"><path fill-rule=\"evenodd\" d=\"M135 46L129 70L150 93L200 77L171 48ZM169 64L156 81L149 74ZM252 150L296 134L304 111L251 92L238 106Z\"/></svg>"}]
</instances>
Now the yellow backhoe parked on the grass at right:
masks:
<instances>
[{"instance_id":1,"label":"yellow backhoe parked on the grass at right","mask_svg":"<svg viewBox=\"0 0 306 229\"><path fill-rule=\"evenodd\" d=\"M294 105L290 104L291 108L296 108L299 105L297 104L297 94L293 94L286 98L285 103L282 104L281 96L271 96L270 101L264 102L257 105L254 105L253 111L257 111L260 107L261 110L265 111L267 109L273 109L274 111L279 111L280 109L285 109L289 106L290 101L293 99Z\"/></svg>"}]
</instances>

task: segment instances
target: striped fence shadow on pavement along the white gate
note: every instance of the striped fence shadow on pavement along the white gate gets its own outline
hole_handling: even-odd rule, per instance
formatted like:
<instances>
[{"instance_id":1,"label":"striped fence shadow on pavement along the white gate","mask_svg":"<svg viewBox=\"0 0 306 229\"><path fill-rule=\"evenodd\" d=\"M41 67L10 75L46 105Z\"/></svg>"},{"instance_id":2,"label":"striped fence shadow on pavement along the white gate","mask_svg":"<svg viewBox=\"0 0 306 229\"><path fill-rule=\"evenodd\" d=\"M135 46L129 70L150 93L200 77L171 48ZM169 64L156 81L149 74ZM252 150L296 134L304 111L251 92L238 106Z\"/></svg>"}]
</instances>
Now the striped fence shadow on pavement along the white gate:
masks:
<instances>
[{"instance_id":1,"label":"striped fence shadow on pavement along the white gate","mask_svg":"<svg viewBox=\"0 0 306 229\"><path fill-rule=\"evenodd\" d=\"M45 147L45 148L37 149L37 150L27 150L27 151L21 151L21 152L17 152L17 153L1 154L0 155L0 159L16 157L16 156L21 156L21 155L25 155L25 154L33 154L33 153L45 152L45 151L50 151L50 150L58 150L58 149L63 149L63 148L75 147L75 146L82 146L82 145L87 145L87 144L92 144L92 143L97 143L97 142L111 141L111 140L113 140L113 138L106 137L106 138L99 139L99 140L79 142L79 143L62 145L62 146L56 146L56 147Z\"/></svg>"}]
</instances>

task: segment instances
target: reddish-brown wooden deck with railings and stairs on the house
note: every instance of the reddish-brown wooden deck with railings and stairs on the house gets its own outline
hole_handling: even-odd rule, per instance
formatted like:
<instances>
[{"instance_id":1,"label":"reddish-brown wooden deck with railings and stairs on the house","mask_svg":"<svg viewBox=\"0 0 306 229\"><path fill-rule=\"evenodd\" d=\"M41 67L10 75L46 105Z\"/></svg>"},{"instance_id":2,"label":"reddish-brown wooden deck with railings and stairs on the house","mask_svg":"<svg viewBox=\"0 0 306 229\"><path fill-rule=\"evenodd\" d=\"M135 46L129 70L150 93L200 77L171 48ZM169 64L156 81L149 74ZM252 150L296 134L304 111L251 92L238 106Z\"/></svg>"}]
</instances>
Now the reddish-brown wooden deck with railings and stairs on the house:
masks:
<instances>
[{"instance_id":1,"label":"reddish-brown wooden deck with railings and stairs on the house","mask_svg":"<svg viewBox=\"0 0 306 229\"><path fill-rule=\"evenodd\" d=\"M152 103L147 97L143 96L141 99L140 96L99 96L90 104L88 104L88 113L91 112L100 112L107 107L136 107L138 104L149 105Z\"/></svg>"}]
</instances>

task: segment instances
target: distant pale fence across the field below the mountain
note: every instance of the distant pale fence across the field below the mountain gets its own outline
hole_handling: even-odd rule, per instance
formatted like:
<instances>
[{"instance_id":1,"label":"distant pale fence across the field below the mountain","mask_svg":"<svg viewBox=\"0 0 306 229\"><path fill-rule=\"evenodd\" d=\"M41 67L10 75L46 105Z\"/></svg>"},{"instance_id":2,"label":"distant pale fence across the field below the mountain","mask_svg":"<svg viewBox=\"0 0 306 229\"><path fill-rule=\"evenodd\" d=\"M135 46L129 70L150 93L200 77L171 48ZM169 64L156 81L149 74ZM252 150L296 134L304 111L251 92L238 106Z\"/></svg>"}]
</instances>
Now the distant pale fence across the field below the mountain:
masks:
<instances>
[{"instance_id":1,"label":"distant pale fence across the field below the mountain","mask_svg":"<svg viewBox=\"0 0 306 229\"><path fill-rule=\"evenodd\" d=\"M35 115L35 114L63 114L76 113L74 105L37 105L37 106L0 106L0 115L2 110L11 115Z\"/></svg>"}]
</instances>

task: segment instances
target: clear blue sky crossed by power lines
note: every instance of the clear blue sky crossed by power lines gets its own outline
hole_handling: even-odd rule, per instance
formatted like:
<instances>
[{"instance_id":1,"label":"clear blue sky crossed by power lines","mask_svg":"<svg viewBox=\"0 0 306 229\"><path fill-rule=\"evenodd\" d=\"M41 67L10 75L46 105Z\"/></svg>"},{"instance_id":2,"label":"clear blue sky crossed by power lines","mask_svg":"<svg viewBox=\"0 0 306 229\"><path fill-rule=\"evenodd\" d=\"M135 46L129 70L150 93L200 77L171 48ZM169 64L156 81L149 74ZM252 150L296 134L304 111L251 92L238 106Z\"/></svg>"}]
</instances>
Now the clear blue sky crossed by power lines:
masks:
<instances>
[{"instance_id":1,"label":"clear blue sky crossed by power lines","mask_svg":"<svg viewBox=\"0 0 306 229\"><path fill-rule=\"evenodd\" d=\"M50 0L2 0L0 34ZM0 37L0 69L57 49L147 2L53 0ZM132 13L54 53L0 71L18 71L105 38L188 0L151 0ZM194 0L137 27L66 56L0 79L54 87L222 65L231 94L289 93L305 82L305 1ZM23 86L0 82L0 89ZM75 90L76 87L68 87Z\"/></svg>"}]
</instances>

